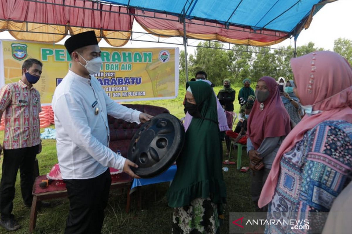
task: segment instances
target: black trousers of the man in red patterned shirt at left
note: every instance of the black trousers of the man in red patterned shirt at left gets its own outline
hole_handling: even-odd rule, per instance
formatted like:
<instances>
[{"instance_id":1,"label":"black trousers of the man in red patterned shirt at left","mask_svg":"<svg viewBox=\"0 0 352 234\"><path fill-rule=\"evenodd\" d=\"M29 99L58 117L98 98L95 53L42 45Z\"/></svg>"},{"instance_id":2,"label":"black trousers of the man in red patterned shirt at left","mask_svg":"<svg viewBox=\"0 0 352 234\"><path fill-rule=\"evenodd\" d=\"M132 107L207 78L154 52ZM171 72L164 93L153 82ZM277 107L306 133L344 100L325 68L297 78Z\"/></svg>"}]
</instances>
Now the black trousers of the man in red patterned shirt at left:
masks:
<instances>
[{"instance_id":1,"label":"black trousers of the man in red patterned shirt at left","mask_svg":"<svg viewBox=\"0 0 352 234\"><path fill-rule=\"evenodd\" d=\"M20 169L23 201L27 206L32 204L33 168L38 150L39 145L20 149L4 149L0 182L0 213L2 220L11 218L18 168Z\"/></svg>"}]
</instances>

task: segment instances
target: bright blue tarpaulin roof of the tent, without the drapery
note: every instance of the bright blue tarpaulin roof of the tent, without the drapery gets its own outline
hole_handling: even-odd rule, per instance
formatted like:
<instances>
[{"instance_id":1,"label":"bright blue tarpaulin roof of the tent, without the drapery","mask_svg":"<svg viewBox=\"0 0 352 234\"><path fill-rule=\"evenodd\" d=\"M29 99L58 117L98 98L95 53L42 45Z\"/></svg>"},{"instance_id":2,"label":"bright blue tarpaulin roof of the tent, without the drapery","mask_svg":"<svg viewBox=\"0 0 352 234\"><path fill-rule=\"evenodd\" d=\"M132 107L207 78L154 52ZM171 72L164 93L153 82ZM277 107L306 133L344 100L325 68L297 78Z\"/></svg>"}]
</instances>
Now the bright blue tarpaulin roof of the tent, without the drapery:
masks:
<instances>
[{"instance_id":1,"label":"bright blue tarpaulin roof of the tent, without the drapery","mask_svg":"<svg viewBox=\"0 0 352 234\"><path fill-rule=\"evenodd\" d=\"M334 0L105 0L145 11L296 35L309 16ZM318 4L318 5L317 5ZM185 11L185 12L184 12ZM185 14L184 14L185 13Z\"/></svg>"}]
</instances>

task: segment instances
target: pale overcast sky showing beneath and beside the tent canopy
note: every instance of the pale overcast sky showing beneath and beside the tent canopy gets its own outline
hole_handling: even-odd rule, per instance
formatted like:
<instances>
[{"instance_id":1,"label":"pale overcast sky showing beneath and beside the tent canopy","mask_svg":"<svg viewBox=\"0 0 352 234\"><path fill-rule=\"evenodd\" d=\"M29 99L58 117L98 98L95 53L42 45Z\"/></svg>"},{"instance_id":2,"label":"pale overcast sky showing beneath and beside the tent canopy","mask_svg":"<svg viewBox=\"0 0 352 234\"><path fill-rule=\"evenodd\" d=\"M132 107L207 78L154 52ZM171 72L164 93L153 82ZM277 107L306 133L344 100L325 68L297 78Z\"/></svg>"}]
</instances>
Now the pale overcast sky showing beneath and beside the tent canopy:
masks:
<instances>
[{"instance_id":1,"label":"pale overcast sky showing beneath and beside the tent canopy","mask_svg":"<svg viewBox=\"0 0 352 234\"><path fill-rule=\"evenodd\" d=\"M297 46L308 44L309 41L314 42L316 47L322 47L325 49L333 50L334 40L337 38L347 38L352 40L352 0L338 0L329 4L326 4L318 13L313 17L313 21L307 30L301 32L297 39ZM143 32L144 30L140 27L137 22L134 22L133 31ZM145 32L145 31L144 31ZM66 37L68 38L68 37ZM65 38L65 39L66 39ZM151 40L152 36L141 36L139 39ZM0 33L0 39L14 39L7 31ZM64 40L58 42L63 44ZM153 39L152 39L153 40ZM156 39L154 39L156 40ZM161 39L170 41L170 39ZM180 41L180 39L171 39L171 41ZM189 40L188 43L191 45L197 45L199 41ZM293 39L287 39L272 47L294 45ZM104 40L99 43L100 47L111 47ZM124 47L176 47L171 44L158 44L152 42L138 42L130 41ZM184 49L183 46L179 46L180 49ZM187 47L187 52L194 53L195 47Z\"/></svg>"}]
</instances>

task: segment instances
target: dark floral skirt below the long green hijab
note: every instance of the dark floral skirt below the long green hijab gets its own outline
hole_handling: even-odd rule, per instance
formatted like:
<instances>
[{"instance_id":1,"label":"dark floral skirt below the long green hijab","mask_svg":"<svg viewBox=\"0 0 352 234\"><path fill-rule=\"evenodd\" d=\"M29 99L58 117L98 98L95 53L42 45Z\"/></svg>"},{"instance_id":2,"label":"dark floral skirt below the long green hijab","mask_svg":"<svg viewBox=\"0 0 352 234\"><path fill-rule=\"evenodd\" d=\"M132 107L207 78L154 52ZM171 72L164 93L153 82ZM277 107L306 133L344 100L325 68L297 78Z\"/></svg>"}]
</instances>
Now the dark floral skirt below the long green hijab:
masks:
<instances>
[{"instance_id":1,"label":"dark floral skirt below the long green hijab","mask_svg":"<svg viewBox=\"0 0 352 234\"><path fill-rule=\"evenodd\" d=\"M172 234L219 233L218 209L210 198L196 198L189 206L177 207L172 217Z\"/></svg>"}]
</instances>

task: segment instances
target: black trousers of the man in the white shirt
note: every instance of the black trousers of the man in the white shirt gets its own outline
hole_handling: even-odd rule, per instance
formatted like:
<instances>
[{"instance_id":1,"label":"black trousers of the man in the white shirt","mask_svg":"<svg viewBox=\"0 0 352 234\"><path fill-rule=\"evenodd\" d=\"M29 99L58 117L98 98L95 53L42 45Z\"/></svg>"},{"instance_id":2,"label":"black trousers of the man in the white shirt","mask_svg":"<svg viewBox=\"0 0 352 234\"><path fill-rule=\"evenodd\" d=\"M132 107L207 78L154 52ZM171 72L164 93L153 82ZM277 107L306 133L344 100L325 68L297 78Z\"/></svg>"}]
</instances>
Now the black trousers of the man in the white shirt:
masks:
<instances>
[{"instance_id":1,"label":"black trousers of the man in the white shirt","mask_svg":"<svg viewBox=\"0 0 352 234\"><path fill-rule=\"evenodd\" d=\"M101 233L111 185L110 170L91 179L63 181L70 201L65 234Z\"/></svg>"}]
</instances>

